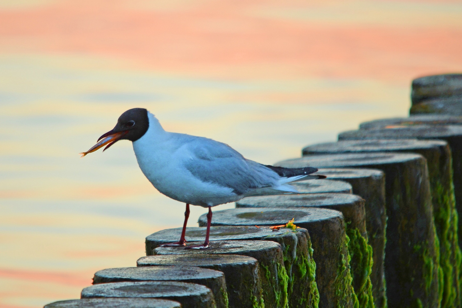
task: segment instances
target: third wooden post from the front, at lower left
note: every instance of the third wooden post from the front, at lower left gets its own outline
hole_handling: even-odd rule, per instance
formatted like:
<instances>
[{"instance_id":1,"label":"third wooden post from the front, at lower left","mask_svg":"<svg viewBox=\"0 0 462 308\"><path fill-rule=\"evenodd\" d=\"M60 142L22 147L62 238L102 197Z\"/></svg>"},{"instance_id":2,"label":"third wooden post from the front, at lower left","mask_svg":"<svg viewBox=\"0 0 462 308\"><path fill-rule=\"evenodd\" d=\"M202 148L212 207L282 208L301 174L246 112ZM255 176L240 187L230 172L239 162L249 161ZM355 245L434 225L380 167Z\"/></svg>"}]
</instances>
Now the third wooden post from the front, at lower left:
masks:
<instances>
[{"instance_id":1,"label":"third wooden post from the front, at lower left","mask_svg":"<svg viewBox=\"0 0 462 308\"><path fill-rule=\"evenodd\" d=\"M228 308L225 275L196 266L154 266L108 268L95 273L93 284L122 281L178 281L207 286L213 292L217 308Z\"/></svg>"}]
</instances>

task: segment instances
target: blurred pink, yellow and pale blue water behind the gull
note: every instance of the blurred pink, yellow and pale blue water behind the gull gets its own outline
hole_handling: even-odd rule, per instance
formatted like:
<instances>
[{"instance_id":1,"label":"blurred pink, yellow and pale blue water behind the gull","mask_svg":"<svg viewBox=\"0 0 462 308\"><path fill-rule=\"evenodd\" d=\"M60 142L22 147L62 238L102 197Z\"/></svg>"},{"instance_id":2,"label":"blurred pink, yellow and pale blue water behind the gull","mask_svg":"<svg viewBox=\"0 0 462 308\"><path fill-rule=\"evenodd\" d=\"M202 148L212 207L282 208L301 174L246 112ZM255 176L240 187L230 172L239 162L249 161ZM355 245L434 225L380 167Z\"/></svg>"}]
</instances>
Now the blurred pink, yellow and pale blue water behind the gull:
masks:
<instances>
[{"instance_id":1,"label":"blurred pink, yellow and pale blue water behind the gull","mask_svg":"<svg viewBox=\"0 0 462 308\"><path fill-rule=\"evenodd\" d=\"M411 79L462 70L461 37L449 0L0 0L0 307L79 298L181 226L130 142L79 158L123 111L270 164L407 115Z\"/></svg>"}]
</instances>

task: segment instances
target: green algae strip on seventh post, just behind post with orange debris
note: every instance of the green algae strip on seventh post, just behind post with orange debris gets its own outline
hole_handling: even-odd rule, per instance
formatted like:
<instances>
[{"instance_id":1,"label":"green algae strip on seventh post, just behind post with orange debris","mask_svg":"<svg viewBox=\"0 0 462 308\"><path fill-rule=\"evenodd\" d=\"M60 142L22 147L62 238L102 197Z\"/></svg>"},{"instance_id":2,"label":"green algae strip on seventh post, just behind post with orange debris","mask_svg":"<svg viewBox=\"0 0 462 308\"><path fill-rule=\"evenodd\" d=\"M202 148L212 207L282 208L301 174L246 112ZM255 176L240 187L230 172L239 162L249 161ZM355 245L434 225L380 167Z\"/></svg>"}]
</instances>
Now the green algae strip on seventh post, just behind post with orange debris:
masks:
<instances>
[{"instance_id":1,"label":"green algae strip on seventh post, just behind post with orange debris","mask_svg":"<svg viewBox=\"0 0 462 308\"><path fill-rule=\"evenodd\" d=\"M337 277L334 281L335 295L337 297L336 308L350 307L351 301L353 301L353 308L359 308L358 297L353 290L353 278L350 272L350 254L348 253L348 244L350 239L345 235L345 242L340 244L340 262L337 265ZM342 247L346 246L346 247ZM346 254L344 254L346 251Z\"/></svg>"}]
</instances>

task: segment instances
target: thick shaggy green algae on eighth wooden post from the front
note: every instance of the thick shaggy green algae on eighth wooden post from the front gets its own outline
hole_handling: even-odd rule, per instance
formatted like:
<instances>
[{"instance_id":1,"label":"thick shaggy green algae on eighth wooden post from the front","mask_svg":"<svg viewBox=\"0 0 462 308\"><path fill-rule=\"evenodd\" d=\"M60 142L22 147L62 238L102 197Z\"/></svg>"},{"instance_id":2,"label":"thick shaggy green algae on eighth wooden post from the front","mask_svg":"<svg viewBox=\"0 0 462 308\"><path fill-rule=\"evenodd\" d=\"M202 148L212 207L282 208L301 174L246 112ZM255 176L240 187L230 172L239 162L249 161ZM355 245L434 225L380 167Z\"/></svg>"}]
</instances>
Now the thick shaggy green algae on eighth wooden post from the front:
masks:
<instances>
[{"instance_id":1,"label":"thick shaggy green algae on eighth wooden post from the front","mask_svg":"<svg viewBox=\"0 0 462 308\"><path fill-rule=\"evenodd\" d=\"M353 290L358 297L359 307L374 308L374 297L372 296L372 247L367 243L359 232L358 228L352 228L351 224L346 226L348 252L351 257L351 275L353 278Z\"/></svg>"}]
</instances>

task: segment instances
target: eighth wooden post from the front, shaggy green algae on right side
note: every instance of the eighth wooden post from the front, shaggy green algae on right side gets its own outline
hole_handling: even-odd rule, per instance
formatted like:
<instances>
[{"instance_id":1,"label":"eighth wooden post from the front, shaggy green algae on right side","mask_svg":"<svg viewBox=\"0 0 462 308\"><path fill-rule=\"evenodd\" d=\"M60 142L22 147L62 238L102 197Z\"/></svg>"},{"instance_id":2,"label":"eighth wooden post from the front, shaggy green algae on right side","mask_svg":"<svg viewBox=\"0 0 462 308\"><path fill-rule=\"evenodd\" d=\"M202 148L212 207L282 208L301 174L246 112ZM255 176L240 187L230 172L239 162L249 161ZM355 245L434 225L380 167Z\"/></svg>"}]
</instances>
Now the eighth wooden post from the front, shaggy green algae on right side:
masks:
<instances>
[{"instance_id":1,"label":"eighth wooden post from the front, shaggy green algae on right side","mask_svg":"<svg viewBox=\"0 0 462 308\"><path fill-rule=\"evenodd\" d=\"M372 296L371 271L372 248L367 242L364 199L357 195L345 193L315 193L310 195L291 194L277 196L253 196L236 202L237 207L323 207L342 212L345 217L346 235L350 241L348 251L351 257L350 266L353 288L359 300L359 307L374 307ZM233 211L233 210L228 210ZM222 224L226 211L218 211L215 223ZM225 214L227 217L228 214ZM199 218L199 224L204 217Z\"/></svg>"}]
</instances>

